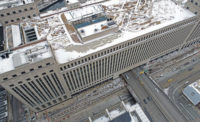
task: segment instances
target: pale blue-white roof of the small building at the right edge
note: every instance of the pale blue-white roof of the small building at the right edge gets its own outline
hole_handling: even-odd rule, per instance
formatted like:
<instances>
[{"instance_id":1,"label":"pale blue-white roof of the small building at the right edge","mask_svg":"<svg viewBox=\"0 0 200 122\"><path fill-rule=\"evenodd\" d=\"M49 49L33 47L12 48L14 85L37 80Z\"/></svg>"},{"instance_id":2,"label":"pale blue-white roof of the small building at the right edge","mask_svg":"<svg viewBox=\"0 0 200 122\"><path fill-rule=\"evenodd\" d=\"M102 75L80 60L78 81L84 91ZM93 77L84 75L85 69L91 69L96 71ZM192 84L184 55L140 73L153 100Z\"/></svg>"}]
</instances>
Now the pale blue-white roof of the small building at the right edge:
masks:
<instances>
[{"instance_id":1,"label":"pale blue-white roof of the small building at the right edge","mask_svg":"<svg viewBox=\"0 0 200 122\"><path fill-rule=\"evenodd\" d=\"M183 94L192 102L197 105L200 103L200 80L188 85L184 88Z\"/></svg>"}]
</instances>

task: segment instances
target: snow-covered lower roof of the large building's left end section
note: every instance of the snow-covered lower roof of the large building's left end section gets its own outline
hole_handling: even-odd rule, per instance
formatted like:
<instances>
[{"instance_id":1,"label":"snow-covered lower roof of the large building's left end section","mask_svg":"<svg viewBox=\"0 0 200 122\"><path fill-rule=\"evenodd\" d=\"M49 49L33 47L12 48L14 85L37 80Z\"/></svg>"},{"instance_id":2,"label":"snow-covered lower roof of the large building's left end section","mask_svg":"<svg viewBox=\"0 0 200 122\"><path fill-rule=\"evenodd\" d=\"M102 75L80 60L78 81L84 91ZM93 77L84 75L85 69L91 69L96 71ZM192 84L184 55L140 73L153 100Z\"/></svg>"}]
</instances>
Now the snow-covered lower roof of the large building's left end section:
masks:
<instances>
[{"instance_id":1,"label":"snow-covered lower roof of the large building's left end section","mask_svg":"<svg viewBox=\"0 0 200 122\"><path fill-rule=\"evenodd\" d=\"M8 57L0 57L0 74L14 70L15 68L52 56L51 49L46 41L23 46L12 51Z\"/></svg>"}]
</instances>

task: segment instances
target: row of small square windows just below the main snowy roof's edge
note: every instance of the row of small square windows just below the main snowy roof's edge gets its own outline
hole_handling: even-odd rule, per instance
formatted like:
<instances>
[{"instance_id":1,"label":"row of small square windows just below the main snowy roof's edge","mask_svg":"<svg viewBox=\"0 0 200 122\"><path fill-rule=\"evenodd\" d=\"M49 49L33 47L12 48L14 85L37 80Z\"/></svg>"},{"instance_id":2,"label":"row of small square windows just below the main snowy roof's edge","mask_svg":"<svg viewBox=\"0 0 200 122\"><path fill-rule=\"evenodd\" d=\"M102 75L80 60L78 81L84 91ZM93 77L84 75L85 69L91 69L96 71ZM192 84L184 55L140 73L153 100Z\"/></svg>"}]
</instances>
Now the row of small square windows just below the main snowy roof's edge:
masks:
<instances>
[{"instance_id":1,"label":"row of small square windows just below the main snowy roof's edge","mask_svg":"<svg viewBox=\"0 0 200 122\"><path fill-rule=\"evenodd\" d=\"M133 41L129 41L129 42L123 43L123 44L118 45L118 46L116 46L116 47L114 47L114 48L110 48L110 49L108 49L108 50L106 50L106 51L102 51L102 52L99 52L98 54L94 54L94 55L92 55L92 56L90 56L90 57L83 58L83 59L81 59L81 60L79 60L79 61L73 61L72 63L67 64L66 66L60 67L60 70L63 71L63 70L66 70L66 69L68 69L68 68L74 67L74 66L76 66L76 65L85 63L85 62L87 62L87 61L90 61L90 60L99 58L99 57L101 57L101 56L105 56L105 55L107 55L107 54L109 54L109 53L111 53L111 52L120 50L120 49L122 49L122 48L125 48L125 47L127 47L127 46L133 45L133 44L135 44L135 43L144 41L144 40L146 40L146 39L149 39L149 38L152 38L152 37L156 37L156 36L158 36L158 35L160 35L160 34L166 33L166 32L171 31L171 30L173 30L173 29L177 29L177 28L180 27L181 25L186 25L186 24L193 23L194 21L196 21L196 19L193 19L193 20L189 19L189 20L184 21L183 23L176 24L176 25L173 25L173 26L169 26L169 27L167 27L167 28L161 29L161 30L156 31L156 32L152 32L152 33L150 33L150 34L148 34L148 35L146 35L146 36L143 36L143 37L138 38L138 39L133 40Z\"/></svg>"}]
</instances>

